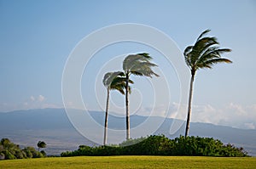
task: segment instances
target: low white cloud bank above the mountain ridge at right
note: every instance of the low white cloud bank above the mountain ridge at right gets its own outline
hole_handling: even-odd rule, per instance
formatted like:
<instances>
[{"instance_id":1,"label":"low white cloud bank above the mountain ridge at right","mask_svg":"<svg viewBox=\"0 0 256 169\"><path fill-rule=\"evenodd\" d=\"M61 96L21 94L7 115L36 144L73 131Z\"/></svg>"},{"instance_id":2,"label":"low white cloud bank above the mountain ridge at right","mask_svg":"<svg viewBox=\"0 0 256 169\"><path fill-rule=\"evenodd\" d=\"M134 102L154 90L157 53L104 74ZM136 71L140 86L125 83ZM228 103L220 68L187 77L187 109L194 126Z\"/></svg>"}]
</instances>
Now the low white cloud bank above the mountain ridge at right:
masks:
<instances>
[{"instance_id":1,"label":"low white cloud bank above the mountain ridge at right","mask_svg":"<svg viewBox=\"0 0 256 169\"><path fill-rule=\"evenodd\" d=\"M162 105L155 107L154 110L152 108L141 109L138 111L137 115L165 117L165 110L166 107ZM187 105L172 103L167 116L185 121L187 118ZM256 104L242 106L241 104L230 103L218 108L210 104L193 105L191 121L244 129L256 129Z\"/></svg>"}]
</instances>

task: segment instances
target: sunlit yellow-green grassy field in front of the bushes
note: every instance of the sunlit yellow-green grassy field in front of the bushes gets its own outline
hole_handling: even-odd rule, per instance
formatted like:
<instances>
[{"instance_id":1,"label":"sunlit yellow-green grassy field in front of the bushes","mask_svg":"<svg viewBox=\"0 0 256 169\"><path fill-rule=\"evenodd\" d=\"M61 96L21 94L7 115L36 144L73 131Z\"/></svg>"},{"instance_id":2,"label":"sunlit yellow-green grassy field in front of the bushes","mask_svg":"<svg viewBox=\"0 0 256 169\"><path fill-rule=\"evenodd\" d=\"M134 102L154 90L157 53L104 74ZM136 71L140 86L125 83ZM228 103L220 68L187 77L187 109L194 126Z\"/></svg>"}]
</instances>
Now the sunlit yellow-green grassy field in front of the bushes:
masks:
<instances>
[{"instance_id":1,"label":"sunlit yellow-green grassy field in front of the bushes","mask_svg":"<svg viewBox=\"0 0 256 169\"><path fill-rule=\"evenodd\" d=\"M256 158L82 156L0 161L0 169L8 168L256 168Z\"/></svg>"}]
</instances>

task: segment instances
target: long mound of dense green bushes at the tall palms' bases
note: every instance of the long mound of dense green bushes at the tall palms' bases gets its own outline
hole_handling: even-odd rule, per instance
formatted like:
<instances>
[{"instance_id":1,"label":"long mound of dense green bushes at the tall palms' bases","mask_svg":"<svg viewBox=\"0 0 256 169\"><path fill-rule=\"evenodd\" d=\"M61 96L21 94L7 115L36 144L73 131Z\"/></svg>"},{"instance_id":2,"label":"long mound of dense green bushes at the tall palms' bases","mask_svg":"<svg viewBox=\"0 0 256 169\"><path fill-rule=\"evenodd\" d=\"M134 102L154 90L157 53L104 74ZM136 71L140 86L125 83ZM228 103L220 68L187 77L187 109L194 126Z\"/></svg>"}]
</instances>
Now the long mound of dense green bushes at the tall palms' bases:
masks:
<instances>
[{"instance_id":1,"label":"long mound of dense green bushes at the tall palms' bases","mask_svg":"<svg viewBox=\"0 0 256 169\"><path fill-rule=\"evenodd\" d=\"M164 135L130 139L114 146L90 147L80 145L78 150L61 153L61 156L80 155L196 155L196 156L247 156L242 148L224 145L218 139L183 137L169 139Z\"/></svg>"}]
</instances>

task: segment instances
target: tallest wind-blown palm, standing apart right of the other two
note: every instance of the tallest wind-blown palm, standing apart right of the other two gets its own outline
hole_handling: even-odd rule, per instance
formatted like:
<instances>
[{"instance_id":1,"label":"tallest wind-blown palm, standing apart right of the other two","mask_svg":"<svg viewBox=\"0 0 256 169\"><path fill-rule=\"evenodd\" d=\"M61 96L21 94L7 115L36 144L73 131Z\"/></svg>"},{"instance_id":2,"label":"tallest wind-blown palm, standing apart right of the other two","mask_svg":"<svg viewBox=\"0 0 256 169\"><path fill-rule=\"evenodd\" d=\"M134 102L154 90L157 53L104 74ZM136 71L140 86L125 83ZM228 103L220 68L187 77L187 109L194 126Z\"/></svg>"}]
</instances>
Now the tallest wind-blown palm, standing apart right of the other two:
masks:
<instances>
[{"instance_id":1,"label":"tallest wind-blown palm, standing apart right of the other two","mask_svg":"<svg viewBox=\"0 0 256 169\"><path fill-rule=\"evenodd\" d=\"M210 30L203 31L197 38L193 46L189 46L184 50L184 58L186 64L191 71L190 89L189 89L189 105L185 137L189 134L189 121L191 115L191 103L193 94L193 82L195 72L201 68L212 68L212 65L218 63L232 63L230 59L221 58L221 54L231 52L230 48L219 48L216 37L205 37Z\"/></svg>"}]
</instances>

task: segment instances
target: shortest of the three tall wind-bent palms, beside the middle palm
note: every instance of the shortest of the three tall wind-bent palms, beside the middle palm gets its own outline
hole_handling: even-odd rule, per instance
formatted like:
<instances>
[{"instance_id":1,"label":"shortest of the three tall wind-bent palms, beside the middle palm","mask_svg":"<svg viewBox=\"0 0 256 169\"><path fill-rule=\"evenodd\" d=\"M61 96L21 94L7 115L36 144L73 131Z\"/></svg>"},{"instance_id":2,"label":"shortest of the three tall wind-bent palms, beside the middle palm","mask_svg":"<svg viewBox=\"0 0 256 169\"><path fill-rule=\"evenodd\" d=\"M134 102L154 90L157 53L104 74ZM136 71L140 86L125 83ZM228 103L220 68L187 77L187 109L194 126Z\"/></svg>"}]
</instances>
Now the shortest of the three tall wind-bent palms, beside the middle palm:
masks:
<instances>
[{"instance_id":1,"label":"shortest of the three tall wind-bent palms, beside the middle palm","mask_svg":"<svg viewBox=\"0 0 256 169\"><path fill-rule=\"evenodd\" d=\"M109 93L110 90L118 90L119 93L125 94L125 74L121 71L108 72L103 77L103 85L107 88L107 103L106 103L106 115L105 115L105 126L104 126L104 140L103 145L107 144L108 134L108 106L109 106ZM130 83L133 83L131 80Z\"/></svg>"}]
</instances>

